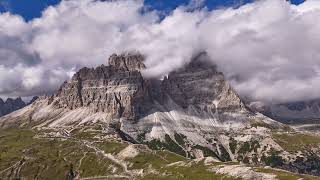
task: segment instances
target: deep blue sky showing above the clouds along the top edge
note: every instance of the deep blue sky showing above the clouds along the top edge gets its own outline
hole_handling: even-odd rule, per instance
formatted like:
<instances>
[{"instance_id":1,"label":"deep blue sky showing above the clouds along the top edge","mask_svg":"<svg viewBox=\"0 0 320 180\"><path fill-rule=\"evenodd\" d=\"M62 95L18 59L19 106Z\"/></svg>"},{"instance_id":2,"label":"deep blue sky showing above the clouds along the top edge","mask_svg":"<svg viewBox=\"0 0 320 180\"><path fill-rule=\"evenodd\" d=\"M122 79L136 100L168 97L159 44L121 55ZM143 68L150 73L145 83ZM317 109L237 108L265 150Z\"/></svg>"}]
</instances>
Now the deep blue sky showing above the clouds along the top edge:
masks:
<instances>
[{"instance_id":1,"label":"deep blue sky showing above the clouds along the top edge","mask_svg":"<svg viewBox=\"0 0 320 180\"><path fill-rule=\"evenodd\" d=\"M0 12L11 12L21 15L29 21L35 17L40 17L43 9L50 5L55 5L61 0L0 0ZM210 9L222 6L239 6L252 2L253 0L206 0L205 5ZM304 0L291 0L294 4L302 3ZM170 12L175 7L187 4L189 0L145 0L145 4L157 10Z\"/></svg>"}]
</instances>

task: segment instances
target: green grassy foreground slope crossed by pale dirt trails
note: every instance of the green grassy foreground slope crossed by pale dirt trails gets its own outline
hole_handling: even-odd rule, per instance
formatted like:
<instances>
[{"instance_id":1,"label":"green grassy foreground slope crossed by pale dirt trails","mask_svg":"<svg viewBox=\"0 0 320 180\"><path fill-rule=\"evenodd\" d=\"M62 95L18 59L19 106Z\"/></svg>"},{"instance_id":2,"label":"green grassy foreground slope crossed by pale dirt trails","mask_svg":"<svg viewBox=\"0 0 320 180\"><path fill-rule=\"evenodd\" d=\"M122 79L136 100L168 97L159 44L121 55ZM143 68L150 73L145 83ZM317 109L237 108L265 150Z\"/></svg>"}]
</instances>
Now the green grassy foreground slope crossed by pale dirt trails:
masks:
<instances>
[{"instance_id":1,"label":"green grassy foreground slope crossed by pale dirt trails","mask_svg":"<svg viewBox=\"0 0 320 180\"><path fill-rule=\"evenodd\" d=\"M0 144L0 179L60 180L70 171L87 179L242 179L232 171L219 172L229 166L278 179L317 179L237 163L195 161L166 150L135 149L139 151L135 156L120 157L119 152L131 145L96 129L8 129L0 132Z\"/></svg>"}]
</instances>

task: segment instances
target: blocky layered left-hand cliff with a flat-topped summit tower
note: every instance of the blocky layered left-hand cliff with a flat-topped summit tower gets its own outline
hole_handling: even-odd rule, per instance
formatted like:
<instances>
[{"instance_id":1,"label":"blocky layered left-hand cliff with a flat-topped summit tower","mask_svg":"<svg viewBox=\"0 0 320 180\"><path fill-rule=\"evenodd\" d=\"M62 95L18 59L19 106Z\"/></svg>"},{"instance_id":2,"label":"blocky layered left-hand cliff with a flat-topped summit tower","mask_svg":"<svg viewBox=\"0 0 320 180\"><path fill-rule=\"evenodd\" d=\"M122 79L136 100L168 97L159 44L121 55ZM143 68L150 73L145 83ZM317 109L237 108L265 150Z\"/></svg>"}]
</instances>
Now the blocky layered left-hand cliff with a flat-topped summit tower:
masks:
<instances>
[{"instance_id":1,"label":"blocky layered left-hand cliff with a flat-topped summit tower","mask_svg":"<svg viewBox=\"0 0 320 180\"><path fill-rule=\"evenodd\" d=\"M134 119L151 100L139 71L144 68L140 54L112 55L109 66L79 70L61 86L53 103L59 108L89 107L109 118Z\"/></svg>"}]
</instances>

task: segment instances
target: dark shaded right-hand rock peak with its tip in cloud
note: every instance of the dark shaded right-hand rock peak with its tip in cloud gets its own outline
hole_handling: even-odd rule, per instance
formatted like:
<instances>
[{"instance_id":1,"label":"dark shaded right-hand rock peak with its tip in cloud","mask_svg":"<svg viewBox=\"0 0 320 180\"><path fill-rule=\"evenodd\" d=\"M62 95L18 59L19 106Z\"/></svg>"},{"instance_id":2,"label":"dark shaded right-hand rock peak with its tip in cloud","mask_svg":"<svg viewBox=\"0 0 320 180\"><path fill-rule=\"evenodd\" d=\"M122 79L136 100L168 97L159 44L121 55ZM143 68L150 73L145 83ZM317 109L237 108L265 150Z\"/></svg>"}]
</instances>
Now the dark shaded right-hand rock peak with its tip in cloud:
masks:
<instances>
[{"instance_id":1,"label":"dark shaded right-hand rock peak with its tip in cloud","mask_svg":"<svg viewBox=\"0 0 320 180\"><path fill-rule=\"evenodd\" d=\"M185 109L194 107L211 113L218 109L233 112L243 109L243 103L224 75L206 61L206 54L170 73L162 82L162 91Z\"/></svg>"}]
</instances>

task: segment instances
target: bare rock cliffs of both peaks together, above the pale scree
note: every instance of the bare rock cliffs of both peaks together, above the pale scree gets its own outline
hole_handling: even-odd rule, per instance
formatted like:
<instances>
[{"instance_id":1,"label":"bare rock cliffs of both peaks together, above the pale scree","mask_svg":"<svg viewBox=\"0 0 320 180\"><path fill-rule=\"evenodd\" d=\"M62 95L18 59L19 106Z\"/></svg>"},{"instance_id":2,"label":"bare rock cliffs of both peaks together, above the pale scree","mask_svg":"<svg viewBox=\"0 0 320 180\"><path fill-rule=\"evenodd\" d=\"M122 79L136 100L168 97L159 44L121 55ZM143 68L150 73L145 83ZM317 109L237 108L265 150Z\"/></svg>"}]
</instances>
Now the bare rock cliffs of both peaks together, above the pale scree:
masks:
<instances>
[{"instance_id":1,"label":"bare rock cliffs of both peaks together, above the pale scree","mask_svg":"<svg viewBox=\"0 0 320 180\"><path fill-rule=\"evenodd\" d=\"M109 66L80 69L65 82L49 104L74 110L88 107L103 112L109 119L138 119L148 113L155 102L165 106L168 99L183 109L215 114L243 108L237 94L217 68L197 57L190 64L172 72L163 81L147 80L140 54L112 55Z\"/></svg>"}]
</instances>

